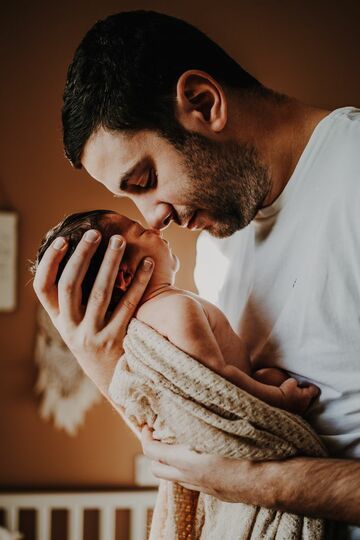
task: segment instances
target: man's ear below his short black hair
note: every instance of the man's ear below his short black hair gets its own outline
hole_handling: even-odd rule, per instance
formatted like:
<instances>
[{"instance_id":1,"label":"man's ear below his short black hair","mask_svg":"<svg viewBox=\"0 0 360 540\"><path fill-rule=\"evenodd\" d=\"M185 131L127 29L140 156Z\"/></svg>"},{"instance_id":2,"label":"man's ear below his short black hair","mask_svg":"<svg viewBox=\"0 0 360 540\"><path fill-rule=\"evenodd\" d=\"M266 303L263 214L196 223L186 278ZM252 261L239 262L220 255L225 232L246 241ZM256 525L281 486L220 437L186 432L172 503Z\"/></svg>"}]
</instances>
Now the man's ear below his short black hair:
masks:
<instances>
[{"instance_id":1,"label":"man's ear below his short black hair","mask_svg":"<svg viewBox=\"0 0 360 540\"><path fill-rule=\"evenodd\" d=\"M176 85L176 117L189 131L219 133L227 123L227 99L215 79L204 71L183 73Z\"/></svg>"}]
</instances>

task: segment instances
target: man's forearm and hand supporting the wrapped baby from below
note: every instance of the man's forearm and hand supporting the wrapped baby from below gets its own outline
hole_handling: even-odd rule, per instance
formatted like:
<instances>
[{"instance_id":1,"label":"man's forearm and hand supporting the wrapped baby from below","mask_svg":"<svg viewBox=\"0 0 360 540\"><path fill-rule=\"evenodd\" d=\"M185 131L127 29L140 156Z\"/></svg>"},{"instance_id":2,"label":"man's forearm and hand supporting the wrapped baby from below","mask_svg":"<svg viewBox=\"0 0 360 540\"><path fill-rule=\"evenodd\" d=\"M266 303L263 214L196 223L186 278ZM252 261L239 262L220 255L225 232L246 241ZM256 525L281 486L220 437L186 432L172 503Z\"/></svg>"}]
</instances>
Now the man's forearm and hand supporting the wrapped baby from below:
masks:
<instances>
[{"instance_id":1,"label":"man's forearm and hand supporting the wrapped baby from below","mask_svg":"<svg viewBox=\"0 0 360 540\"><path fill-rule=\"evenodd\" d=\"M360 461L292 458L252 462L200 454L142 432L156 477L223 501L344 521L360 526Z\"/></svg>"}]
</instances>

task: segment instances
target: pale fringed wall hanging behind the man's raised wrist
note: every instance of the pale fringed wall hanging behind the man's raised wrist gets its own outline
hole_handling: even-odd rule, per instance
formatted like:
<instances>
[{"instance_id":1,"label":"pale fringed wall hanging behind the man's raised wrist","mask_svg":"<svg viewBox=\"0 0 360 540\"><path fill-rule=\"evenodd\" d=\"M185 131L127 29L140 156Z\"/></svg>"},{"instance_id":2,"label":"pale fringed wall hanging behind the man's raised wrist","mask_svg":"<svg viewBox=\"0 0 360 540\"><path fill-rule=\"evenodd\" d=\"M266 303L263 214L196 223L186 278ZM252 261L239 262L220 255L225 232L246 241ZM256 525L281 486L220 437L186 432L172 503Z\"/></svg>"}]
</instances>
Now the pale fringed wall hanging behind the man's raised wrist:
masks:
<instances>
[{"instance_id":1,"label":"pale fringed wall hanging behind the man's raised wrist","mask_svg":"<svg viewBox=\"0 0 360 540\"><path fill-rule=\"evenodd\" d=\"M40 416L52 419L58 429L76 435L86 412L101 400L101 394L78 365L46 311L37 317L35 390L41 394Z\"/></svg>"}]
</instances>

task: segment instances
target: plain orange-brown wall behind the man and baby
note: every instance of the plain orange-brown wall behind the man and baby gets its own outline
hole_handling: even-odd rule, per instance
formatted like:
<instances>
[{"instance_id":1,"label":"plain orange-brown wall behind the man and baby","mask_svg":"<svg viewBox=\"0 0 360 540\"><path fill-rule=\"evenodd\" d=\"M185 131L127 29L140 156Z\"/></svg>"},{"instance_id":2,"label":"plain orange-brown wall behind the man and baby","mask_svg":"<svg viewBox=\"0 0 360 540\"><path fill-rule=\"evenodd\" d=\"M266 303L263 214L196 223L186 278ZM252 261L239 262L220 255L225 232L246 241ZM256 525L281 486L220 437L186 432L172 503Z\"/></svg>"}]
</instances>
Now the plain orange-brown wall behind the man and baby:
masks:
<instances>
[{"instance_id":1,"label":"plain orange-brown wall behind the man and baby","mask_svg":"<svg viewBox=\"0 0 360 540\"><path fill-rule=\"evenodd\" d=\"M84 32L126 9L185 18L224 46L264 84L315 105L360 105L360 4L329 1L205 2L77 0L2 6L0 208L20 216L18 309L0 314L0 483L117 485L133 481L134 436L110 406L95 406L76 438L37 413L32 361L36 299L27 261L65 213L113 207L132 217L63 157L59 110L67 64ZM194 239L172 228L182 260L178 283L193 288Z\"/></svg>"}]
</instances>

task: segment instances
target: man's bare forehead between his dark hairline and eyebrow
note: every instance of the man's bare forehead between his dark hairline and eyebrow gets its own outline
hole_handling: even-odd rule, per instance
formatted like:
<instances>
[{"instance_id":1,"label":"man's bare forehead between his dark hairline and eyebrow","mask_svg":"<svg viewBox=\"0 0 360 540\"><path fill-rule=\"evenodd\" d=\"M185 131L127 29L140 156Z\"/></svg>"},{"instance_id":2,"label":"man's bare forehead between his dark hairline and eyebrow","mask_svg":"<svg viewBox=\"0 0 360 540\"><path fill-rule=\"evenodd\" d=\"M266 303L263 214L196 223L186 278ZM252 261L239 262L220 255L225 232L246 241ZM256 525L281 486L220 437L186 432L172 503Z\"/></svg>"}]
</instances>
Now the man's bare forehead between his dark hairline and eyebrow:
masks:
<instances>
[{"instance_id":1,"label":"man's bare forehead between his dark hairline and eyebrow","mask_svg":"<svg viewBox=\"0 0 360 540\"><path fill-rule=\"evenodd\" d=\"M121 177L139 163L146 153L145 134L136 135L98 128L84 146L81 163L87 172L100 182Z\"/></svg>"}]
</instances>

